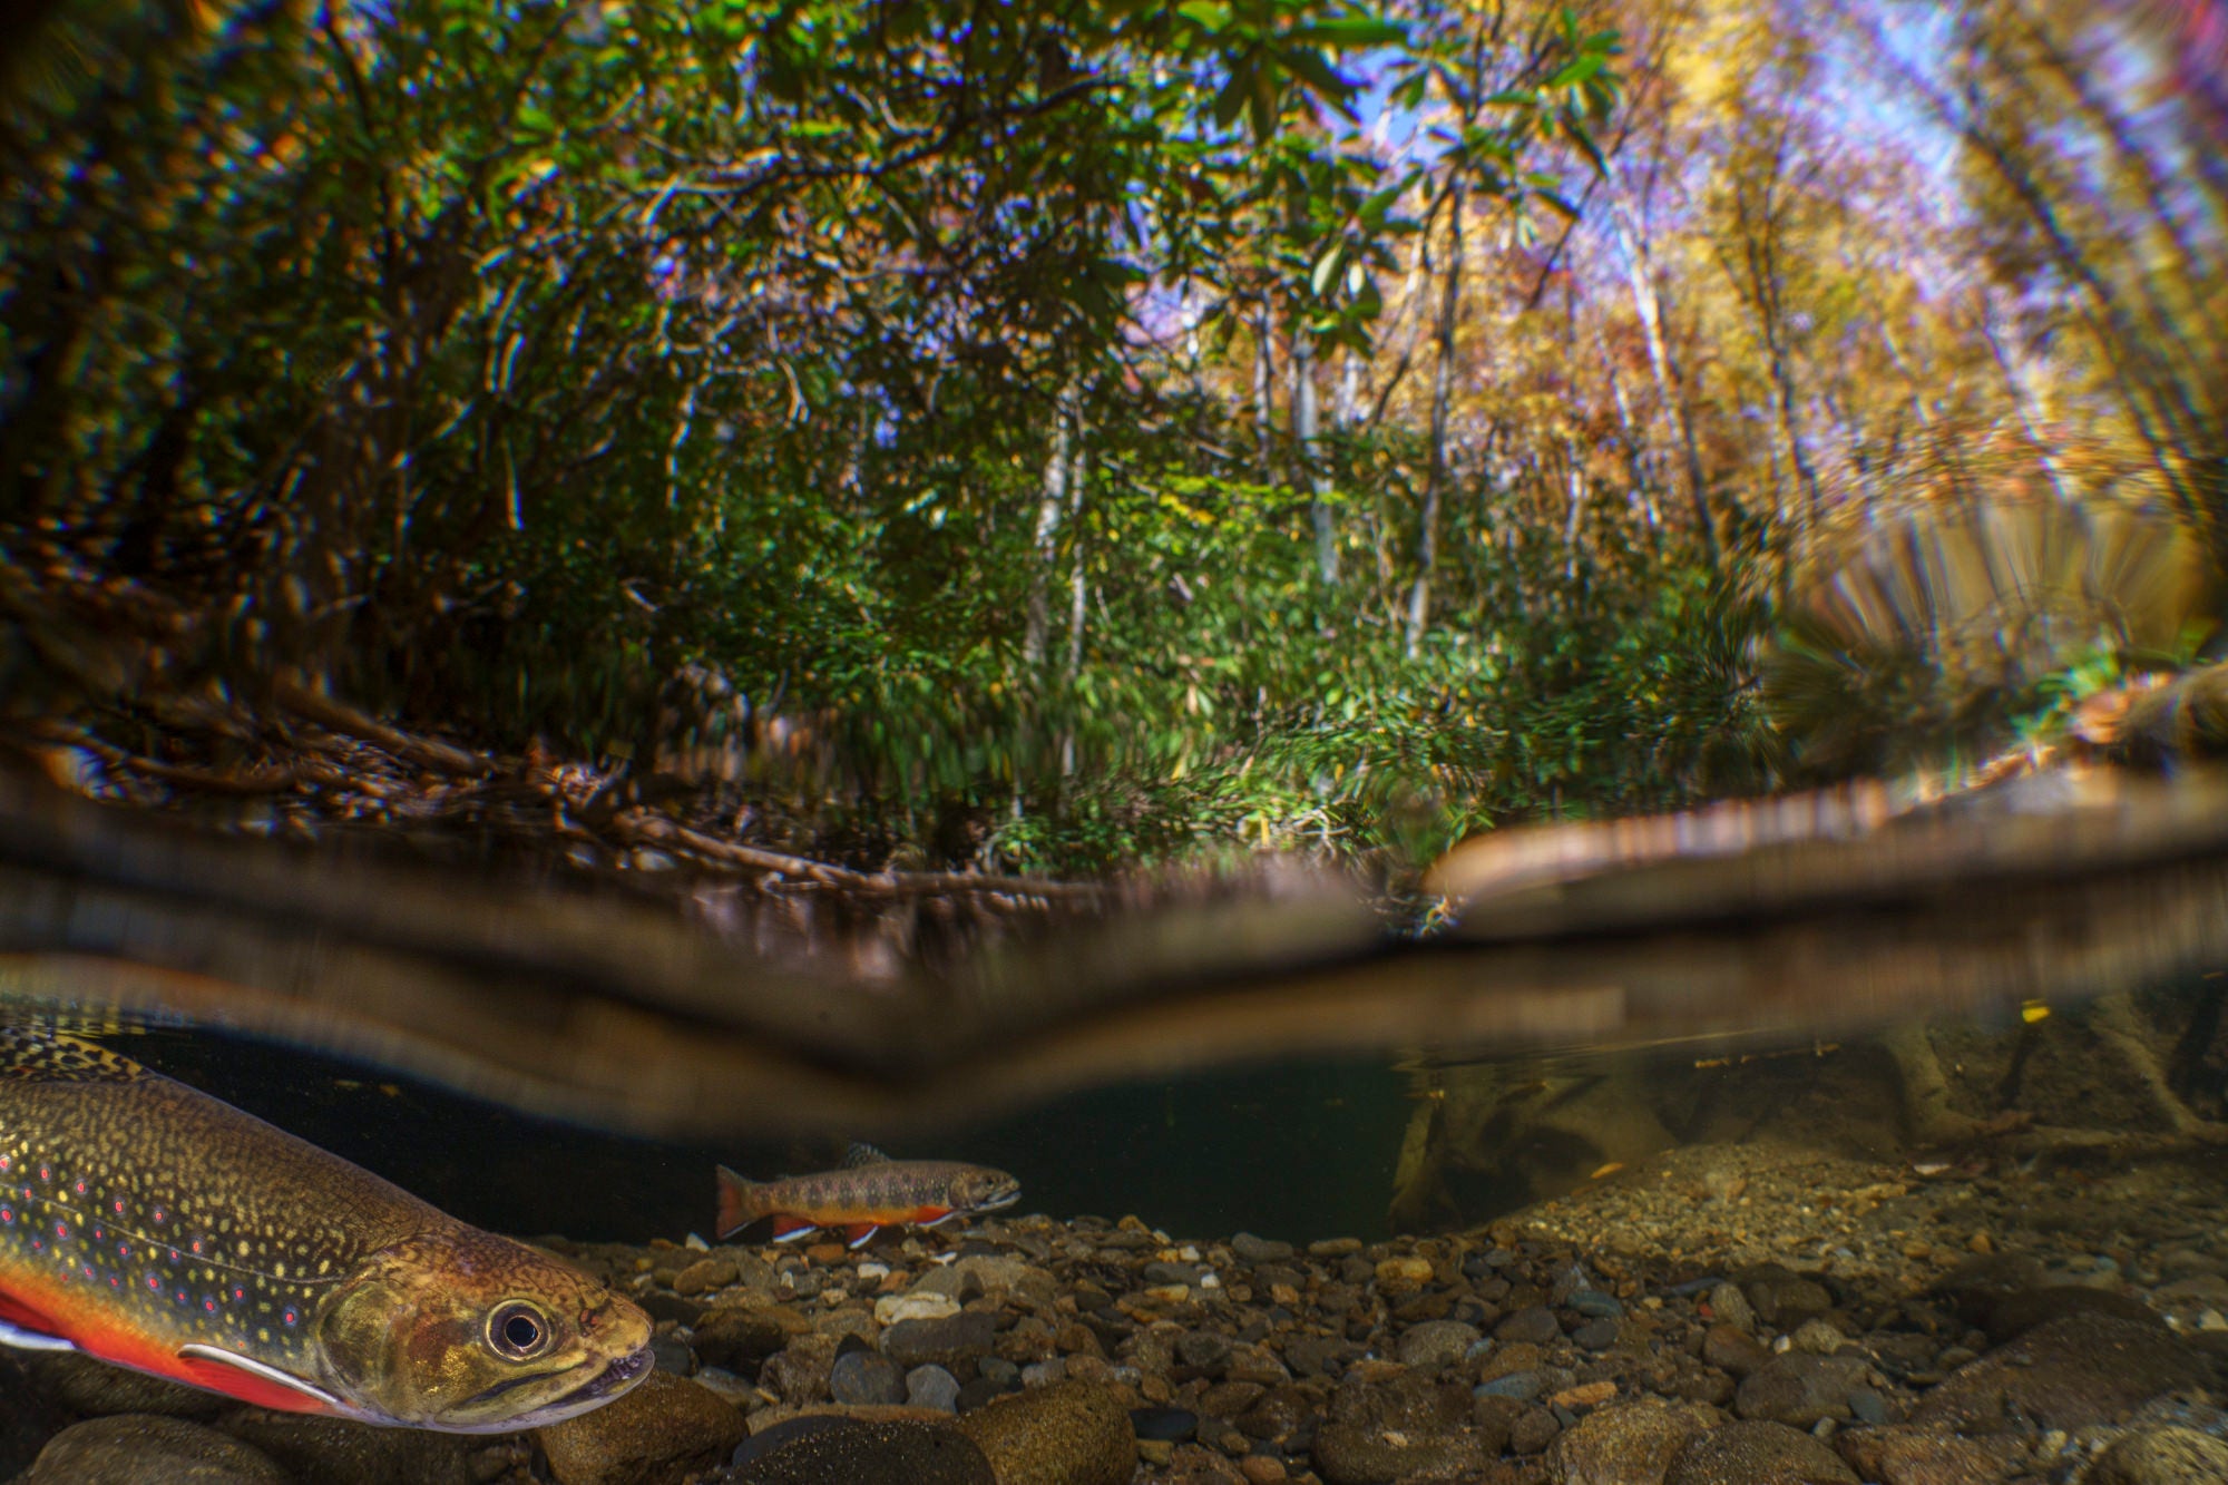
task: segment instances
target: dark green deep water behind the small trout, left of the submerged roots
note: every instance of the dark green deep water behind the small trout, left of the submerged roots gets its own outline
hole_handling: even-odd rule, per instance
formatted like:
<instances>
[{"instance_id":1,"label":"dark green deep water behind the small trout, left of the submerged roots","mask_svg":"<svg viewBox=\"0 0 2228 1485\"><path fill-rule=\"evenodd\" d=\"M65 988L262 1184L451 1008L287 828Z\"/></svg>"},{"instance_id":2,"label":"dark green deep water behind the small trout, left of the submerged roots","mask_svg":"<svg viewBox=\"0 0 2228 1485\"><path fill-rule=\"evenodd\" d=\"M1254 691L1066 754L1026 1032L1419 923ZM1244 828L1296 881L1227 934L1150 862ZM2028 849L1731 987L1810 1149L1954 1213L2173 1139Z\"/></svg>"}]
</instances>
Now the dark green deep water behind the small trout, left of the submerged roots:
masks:
<instances>
[{"instance_id":1,"label":"dark green deep water behind the small trout, left of the submerged roots","mask_svg":"<svg viewBox=\"0 0 2228 1485\"><path fill-rule=\"evenodd\" d=\"M713 1166L822 1168L844 1139L724 1146L631 1139L448 1088L216 1032L149 1030L131 1057L405 1186L477 1226L646 1242L713 1238ZM1283 1064L1081 1093L880 1144L971 1159L1023 1182L1020 1211L1136 1213L1172 1235L1306 1242L1379 1235L1408 1119L1381 1064Z\"/></svg>"}]
</instances>

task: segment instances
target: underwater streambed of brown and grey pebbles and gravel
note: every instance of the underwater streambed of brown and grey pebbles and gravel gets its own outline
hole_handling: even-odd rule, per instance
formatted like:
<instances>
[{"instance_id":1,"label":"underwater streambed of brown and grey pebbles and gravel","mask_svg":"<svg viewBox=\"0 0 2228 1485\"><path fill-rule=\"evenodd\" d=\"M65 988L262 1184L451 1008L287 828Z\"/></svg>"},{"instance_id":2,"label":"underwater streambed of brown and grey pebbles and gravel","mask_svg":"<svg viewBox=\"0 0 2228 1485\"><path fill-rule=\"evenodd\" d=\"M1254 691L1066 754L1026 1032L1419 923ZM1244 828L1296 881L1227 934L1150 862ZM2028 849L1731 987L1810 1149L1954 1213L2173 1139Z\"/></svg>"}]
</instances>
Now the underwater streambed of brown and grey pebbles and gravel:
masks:
<instances>
[{"instance_id":1,"label":"underwater streambed of brown and grey pebbles and gravel","mask_svg":"<svg viewBox=\"0 0 2228 1485\"><path fill-rule=\"evenodd\" d=\"M492 1485L2228 1481L2228 1177L1671 1151L1484 1231L1012 1217L864 1251L546 1240L657 1374L532 1436L0 1362L0 1478Z\"/></svg>"}]
</instances>

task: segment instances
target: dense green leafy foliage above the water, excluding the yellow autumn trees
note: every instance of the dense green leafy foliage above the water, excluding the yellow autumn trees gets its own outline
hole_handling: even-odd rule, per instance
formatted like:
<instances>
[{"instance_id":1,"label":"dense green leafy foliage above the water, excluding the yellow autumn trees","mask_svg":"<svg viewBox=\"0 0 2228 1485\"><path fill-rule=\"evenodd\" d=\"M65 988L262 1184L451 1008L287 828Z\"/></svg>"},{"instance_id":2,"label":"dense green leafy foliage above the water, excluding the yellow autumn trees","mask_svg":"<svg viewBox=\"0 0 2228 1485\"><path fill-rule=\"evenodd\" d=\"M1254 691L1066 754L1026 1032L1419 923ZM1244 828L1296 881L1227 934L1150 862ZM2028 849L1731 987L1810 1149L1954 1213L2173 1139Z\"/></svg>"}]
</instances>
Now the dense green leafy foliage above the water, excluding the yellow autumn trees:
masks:
<instances>
[{"instance_id":1,"label":"dense green leafy foliage above the water, excluding the yellow autumn trees","mask_svg":"<svg viewBox=\"0 0 2228 1485\"><path fill-rule=\"evenodd\" d=\"M1611 33L1488 96L1477 33L1319 0L178 16L9 105L0 553L185 598L203 673L648 763L711 662L844 760L769 818L862 858L1419 863L1747 783L1684 542L1482 491L1410 658L1430 453L1339 430L1297 488L1163 350L1185 294L1372 348L1415 176L1332 127L1352 58L1470 89L1446 149L1524 227Z\"/></svg>"}]
</instances>

